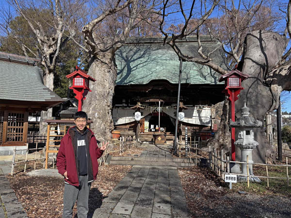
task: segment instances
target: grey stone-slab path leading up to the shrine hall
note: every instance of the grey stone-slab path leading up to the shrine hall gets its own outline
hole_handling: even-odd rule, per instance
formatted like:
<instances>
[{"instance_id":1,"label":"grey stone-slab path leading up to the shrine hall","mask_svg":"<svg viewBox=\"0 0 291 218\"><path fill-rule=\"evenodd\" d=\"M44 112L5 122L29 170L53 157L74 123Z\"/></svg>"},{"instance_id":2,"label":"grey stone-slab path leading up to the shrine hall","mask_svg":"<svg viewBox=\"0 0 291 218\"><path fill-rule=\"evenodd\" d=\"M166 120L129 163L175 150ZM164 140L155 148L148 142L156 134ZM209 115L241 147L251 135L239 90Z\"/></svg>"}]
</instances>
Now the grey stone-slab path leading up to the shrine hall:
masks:
<instances>
[{"instance_id":1,"label":"grey stone-slab path leading up to the shrine hall","mask_svg":"<svg viewBox=\"0 0 291 218\"><path fill-rule=\"evenodd\" d=\"M150 148L141 156L172 158L164 147ZM133 166L93 218L190 218L177 169Z\"/></svg>"}]
</instances>

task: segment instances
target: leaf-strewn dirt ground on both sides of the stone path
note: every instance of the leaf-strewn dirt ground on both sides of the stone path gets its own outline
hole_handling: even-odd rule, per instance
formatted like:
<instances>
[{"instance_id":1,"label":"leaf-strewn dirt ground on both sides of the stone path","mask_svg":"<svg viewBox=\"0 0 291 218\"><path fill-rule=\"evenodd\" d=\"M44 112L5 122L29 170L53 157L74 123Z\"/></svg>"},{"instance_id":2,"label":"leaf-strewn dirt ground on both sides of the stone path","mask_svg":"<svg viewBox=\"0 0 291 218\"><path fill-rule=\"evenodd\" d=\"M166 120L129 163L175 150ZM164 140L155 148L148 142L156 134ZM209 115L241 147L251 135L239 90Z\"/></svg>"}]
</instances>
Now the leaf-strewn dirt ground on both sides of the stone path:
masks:
<instances>
[{"instance_id":1,"label":"leaf-strewn dirt ground on both sides of the stone path","mask_svg":"<svg viewBox=\"0 0 291 218\"><path fill-rule=\"evenodd\" d=\"M139 155L141 151L135 149L123 155ZM28 166L29 170L31 167ZM42 168L42 164L37 167ZM100 206L102 199L130 169L129 166L116 165L99 168L97 181L92 184L90 191L89 213L92 214ZM21 170L20 166L16 167L16 171ZM265 184L251 184L250 188L245 184L233 184L233 189L229 190L228 184L209 168L179 168L178 174L193 218L291 217L291 187L287 189L284 183L270 182L270 188L266 188ZM15 176L8 176L8 179L29 218L61 218L64 191L62 178L29 177L18 172ZM244 193L239 194L239 191ZM74 214L76 212L74 208Z\"/></svg>"}]
</instances>

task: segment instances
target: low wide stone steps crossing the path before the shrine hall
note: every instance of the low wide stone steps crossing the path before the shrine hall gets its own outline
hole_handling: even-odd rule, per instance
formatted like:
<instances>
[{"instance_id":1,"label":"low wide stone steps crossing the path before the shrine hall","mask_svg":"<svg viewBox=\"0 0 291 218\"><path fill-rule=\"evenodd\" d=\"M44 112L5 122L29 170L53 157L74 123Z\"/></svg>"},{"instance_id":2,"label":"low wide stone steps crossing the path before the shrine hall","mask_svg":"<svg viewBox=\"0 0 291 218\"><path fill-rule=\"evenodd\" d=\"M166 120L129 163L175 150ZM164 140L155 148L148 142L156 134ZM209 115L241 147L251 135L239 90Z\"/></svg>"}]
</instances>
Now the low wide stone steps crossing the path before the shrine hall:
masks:
<instances>
[{"instance_id":1,"label":"low wide stone steps crossing the path before the shrine hall","mask_svg":"<svg viewBox=\"0 0 291 218\"><path fill-rule=\"evenodd\" d=\"M147 151L142 151L141 155L128 157L113 157L107 158L108 164L113 165L137 165L151 167L194 167L195 163L190 163L189 158L173 157L170 149L167 146L147 145Z\"/></svg>"}]
</instances>

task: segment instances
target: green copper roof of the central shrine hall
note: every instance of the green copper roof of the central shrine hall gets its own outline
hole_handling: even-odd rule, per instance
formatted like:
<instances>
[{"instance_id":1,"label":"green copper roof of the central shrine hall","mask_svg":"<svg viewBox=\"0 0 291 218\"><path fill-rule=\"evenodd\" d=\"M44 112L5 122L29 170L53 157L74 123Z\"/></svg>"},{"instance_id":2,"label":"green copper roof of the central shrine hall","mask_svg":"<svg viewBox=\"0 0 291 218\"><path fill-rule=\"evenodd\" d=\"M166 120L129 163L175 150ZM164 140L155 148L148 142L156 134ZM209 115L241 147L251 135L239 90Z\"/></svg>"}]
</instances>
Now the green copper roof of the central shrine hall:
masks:
<instances>
[{"instance_id":1,"label":"green copper roof of the central shrine hall","mask_svg":"<svg viewBox=\"0 0 291 218\"><path fill-rule=\"evenodd\" d=\"M160 39L160 41L162 41ZM211 51L219 44L209 40L203 43L204 51ZM179 49L189 55L199 57L197 42L180 42ZM213 62L226 69L221 50L210 56ZM122 46L115 54L117 64L117 85L147 84L152 80L167 80L178 84L179 60L174 50L162 43L134 43ZM191 62L183 62L181 83L221 84L221 74L210 67Z\"/></svg>"}]
</instances>

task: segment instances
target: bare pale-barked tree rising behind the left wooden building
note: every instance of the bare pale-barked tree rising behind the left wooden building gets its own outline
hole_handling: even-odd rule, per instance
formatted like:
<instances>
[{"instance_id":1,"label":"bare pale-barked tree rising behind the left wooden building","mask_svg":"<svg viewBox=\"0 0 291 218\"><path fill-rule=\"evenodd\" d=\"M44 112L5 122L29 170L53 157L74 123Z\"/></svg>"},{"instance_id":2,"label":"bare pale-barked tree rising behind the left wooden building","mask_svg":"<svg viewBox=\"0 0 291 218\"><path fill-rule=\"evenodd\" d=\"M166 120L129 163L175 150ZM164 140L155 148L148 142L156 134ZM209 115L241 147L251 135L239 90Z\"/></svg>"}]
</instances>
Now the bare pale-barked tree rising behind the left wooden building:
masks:
<instances>
[{"instance_id":1,"label":"bare pale-barked tree rising behind the left wooden building","mask_svg":"<svg viewBox=\"0 0 291 218\"><path fill-rule=\"evenodd\" d=\"M85 0L12 0L10 5L15 9L18 21L27 25L33 34L31 40L23 38L23 34L11 25L19 25L13 20L13 14L3 11L1 29L15 40L23 53L28 56L40 58L44 69L44 84L53 90L54 74L61 51L68 40L78 34L78 24L81 17L85 16ZM10 11L11 12L11 11ZM14 23L13 23L14 21ZM24 29L24 28L23 28ZM22 30L23 30L22 29ZM29 41L29 42L28 42ZM34 43L33 43L34 42ZM42 111L40 132L46 133L46 123L42 121L52 116L52 109Z\"/></svg>"}]
</instances>

